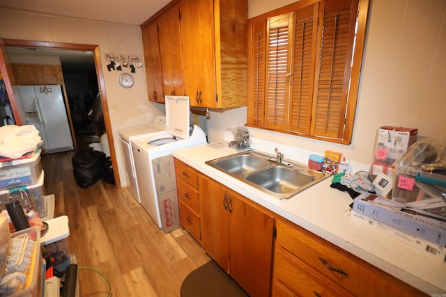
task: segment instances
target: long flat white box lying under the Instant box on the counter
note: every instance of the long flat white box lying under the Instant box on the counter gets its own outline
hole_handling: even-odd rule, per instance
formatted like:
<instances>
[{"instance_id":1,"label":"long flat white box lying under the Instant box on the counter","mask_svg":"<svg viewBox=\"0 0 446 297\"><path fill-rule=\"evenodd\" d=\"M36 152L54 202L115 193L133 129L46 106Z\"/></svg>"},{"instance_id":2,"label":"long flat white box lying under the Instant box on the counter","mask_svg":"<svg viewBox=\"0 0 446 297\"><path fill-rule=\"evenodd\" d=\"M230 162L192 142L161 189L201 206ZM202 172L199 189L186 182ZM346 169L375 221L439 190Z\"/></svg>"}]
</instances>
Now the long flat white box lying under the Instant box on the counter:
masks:
<instances>
[{"instance_id":1,"label":"long flat white box lying under the Instant box on the counter","mask_svg":"<svg viewBox=\"0 0 446 297\"><path fill-rule=\"evenodd\" d=\"M422 239L420 236L416 236L413 234L409 234L408 232L404 232L398 230L390 225L385 223L381 223L374 218L369 218L368 216L364 216L363 214L359 214L356 211L351 211L350 218L355 220L358 223L363 225L367 225L371 229L374 229L378 232L382 232L387 236L392 237L393 239L397 239L402 243L406 243L408 246L412 246L417 250L422 250L426 252L426 255L431 255L436 257L441 262L446 261L446 248L443 246L438 246L430 241L426 241Z\"/></svg>"}]
</instances>

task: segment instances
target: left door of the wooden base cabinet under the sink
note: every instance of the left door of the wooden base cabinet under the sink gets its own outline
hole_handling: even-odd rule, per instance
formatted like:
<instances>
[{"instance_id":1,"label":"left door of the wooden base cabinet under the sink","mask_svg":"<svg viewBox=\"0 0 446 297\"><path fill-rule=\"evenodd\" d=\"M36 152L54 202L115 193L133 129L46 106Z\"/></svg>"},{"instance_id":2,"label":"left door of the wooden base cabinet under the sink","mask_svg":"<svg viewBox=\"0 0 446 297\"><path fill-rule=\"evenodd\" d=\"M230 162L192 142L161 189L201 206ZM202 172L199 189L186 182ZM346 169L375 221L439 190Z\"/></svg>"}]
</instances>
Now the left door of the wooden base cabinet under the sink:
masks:
<instances>
[{"instance_id":1,"label":"left door of the wooden base cabinet under the sink","mask_svg":"<svg viewBox=\"0 0 446 297\"><path fill-rule=\"evenodd\" d=\"M201 186L201 185L200 185ZM203 197L203 248L229 273L229 197L225 188L206 179Z\"/></svg>"}]
</instances>

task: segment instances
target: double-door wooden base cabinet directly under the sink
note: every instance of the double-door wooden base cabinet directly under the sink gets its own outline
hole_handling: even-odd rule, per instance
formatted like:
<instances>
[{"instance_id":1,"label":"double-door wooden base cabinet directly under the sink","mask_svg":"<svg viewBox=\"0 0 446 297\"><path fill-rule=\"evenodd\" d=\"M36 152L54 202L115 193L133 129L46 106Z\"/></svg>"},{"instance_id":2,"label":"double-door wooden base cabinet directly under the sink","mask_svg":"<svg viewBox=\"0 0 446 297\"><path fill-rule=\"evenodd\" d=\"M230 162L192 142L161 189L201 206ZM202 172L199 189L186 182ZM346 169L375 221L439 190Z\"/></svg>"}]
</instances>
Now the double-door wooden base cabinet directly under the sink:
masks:
<instances>
[{"instance_id":1,"label":"double-door wooden base cabinet directly under the sink","mask_svg":"<svg viewBox=\"0 0 446 297\"><path fill-rule=\"evenodd\" d=\"M249 296L270 296L274 218L213 179L205 182L203 248Z\"/></svg>"}]
</instances>

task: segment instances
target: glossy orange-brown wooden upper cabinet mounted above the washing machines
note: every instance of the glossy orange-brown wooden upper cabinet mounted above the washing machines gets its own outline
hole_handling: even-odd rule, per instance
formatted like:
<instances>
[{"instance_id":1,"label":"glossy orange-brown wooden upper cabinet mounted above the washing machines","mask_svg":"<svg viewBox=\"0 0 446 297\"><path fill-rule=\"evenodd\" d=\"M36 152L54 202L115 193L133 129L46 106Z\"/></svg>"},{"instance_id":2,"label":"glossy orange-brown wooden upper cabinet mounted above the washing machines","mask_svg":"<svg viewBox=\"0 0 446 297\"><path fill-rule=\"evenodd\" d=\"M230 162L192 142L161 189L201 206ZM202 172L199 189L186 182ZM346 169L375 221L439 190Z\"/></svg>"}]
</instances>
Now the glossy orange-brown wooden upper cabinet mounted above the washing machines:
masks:
<instances>
[{"instance_id":1,"label":"glossy orange-brown wooden upper cabinet mounted above the washing machines","mask_svg":"<svg viewBox=\"0 0 446 297\"><path fill-rule=\"evenodd\" d=\"M157 22L164 95L187 95L191 106L211 109L245 106L247 16L247 0L174 0L144 23L147 35ZM151 47L144 40L145 57Z\"/></svg>"}]
</instances>

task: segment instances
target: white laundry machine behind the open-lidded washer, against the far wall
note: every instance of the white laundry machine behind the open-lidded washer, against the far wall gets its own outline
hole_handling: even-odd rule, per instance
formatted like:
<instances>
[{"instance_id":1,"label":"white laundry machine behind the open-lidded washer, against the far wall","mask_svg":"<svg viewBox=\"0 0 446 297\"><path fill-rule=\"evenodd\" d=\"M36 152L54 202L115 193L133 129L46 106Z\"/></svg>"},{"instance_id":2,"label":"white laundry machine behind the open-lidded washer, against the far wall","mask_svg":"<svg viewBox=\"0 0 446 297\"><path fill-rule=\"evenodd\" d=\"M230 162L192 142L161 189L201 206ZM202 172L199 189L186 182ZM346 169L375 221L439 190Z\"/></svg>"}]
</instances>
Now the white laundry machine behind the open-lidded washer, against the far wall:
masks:
<instances>
[{"instance_id":1,"label":"white laundry machine behind the open-lidded washer, against the far wall","mask_svg":"<svg viewBox=\"0 0 446 297\"><path fill-rule=\"evenodd\" d=\"M125 167L127 168L130 182L129 190L133 198L139 203L141 203L141 198L139 197L137 175L136 170L134 169L132 139L157 131L166 131L166 117L164 115L158 115L153 122L148 123L147 125L121 129L118 132L118 138L123 147Z\"/></svg>"}]
</instances>

